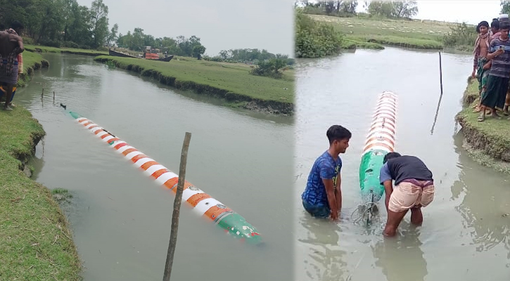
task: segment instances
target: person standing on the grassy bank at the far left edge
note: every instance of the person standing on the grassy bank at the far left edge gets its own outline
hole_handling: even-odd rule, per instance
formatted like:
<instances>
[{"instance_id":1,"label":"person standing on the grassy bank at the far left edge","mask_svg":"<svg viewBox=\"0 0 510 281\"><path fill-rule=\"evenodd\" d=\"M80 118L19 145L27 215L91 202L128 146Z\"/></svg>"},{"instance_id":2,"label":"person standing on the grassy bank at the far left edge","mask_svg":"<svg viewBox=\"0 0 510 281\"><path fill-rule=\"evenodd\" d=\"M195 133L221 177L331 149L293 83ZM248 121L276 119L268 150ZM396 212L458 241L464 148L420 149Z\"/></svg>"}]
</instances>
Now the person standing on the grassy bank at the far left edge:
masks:
<instances>
[{"instance_id":1,"label":"person standing on the grassy bank at the far left edge","mask_svg":"<svg viewBox=\"0 0 510 281\"><path fill-rule=\"evenodd\" d=\"M0 31L0 84L5 86L7 91L4 110L12 110L8 105L13 86L18 84L18 54L23 51L25 48L20 36Z\"/></svg>"}]
</instances>

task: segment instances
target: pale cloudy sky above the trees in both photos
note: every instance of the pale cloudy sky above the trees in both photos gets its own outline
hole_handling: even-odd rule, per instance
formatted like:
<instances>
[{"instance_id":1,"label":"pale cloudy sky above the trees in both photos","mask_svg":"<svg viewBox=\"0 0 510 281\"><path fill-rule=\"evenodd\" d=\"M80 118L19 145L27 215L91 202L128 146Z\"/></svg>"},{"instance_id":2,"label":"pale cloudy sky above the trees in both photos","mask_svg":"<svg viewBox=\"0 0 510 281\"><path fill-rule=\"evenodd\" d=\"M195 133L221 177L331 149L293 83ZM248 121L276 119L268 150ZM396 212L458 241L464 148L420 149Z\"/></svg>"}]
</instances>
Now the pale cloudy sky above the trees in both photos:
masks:
<instances>
[{"instance_id":1,"label":"pale cloudy sky above the trees in both photos","mask_svg":"<svg viewBox=\"0 0 510 281\"><path fill-rule=\"evenodd\" d=\"M78 0L91 6L93 0ZM117 23L126 34L141 27L154 37L200 38L208 55L230 48L265 48L271 53L293 53L294 0L103 0L110 27ZM359 1L362 8L364 1ZM145 3L145 4L143 4ZM416 18L490 22L499 14L499 1L418 1Z\"/></svg>"}]
</instances>

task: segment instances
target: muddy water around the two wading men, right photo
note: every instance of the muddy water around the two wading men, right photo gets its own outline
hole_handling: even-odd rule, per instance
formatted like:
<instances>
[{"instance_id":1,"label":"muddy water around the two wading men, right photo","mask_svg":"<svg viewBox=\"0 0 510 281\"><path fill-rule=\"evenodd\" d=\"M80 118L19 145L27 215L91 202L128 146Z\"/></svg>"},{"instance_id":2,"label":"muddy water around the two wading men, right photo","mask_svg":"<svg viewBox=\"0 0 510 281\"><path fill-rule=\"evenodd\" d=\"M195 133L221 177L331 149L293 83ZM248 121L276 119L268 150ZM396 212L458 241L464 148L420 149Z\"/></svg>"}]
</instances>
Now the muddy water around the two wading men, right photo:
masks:
<instances>
[{"instance_id":1,"label":"muddy water around the two wading men, right photo","mask_svg":"<svg viewBox=\"0 0 510 281\"><path fill-rule=\"evenodd\" d=\"M444 94L437 117L437 52L356 51L301 60L299 66L296 280L508 280L510 177L468 158L454 122L471 73L471 56L442 54ZM382 200L381 219L371 226L357 225L356 217L351 218L360 202L364 138L377 96L385 90L398 95L395 150L421 157L436 182L435 200L423 209L423 226L410 225L407 214L393 239L382 236ZM338 224L311 218L300 203L314 159L328 147L326 130L332 124L353 134L342 155L343 214Z\"/></svg>"}]
</instances>

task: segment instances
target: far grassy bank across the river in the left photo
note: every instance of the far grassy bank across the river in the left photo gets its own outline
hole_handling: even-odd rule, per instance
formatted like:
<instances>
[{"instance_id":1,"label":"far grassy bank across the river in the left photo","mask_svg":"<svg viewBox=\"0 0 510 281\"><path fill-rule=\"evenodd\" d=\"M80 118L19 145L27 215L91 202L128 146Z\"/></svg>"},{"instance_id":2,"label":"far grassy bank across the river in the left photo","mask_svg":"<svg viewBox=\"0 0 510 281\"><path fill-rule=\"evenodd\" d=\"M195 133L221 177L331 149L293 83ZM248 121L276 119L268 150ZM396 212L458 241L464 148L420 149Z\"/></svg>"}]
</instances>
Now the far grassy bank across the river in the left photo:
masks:
<instances>
[{"instance_id":1,"label":"far grassy bank across the river in the left photo","mask_svg":"<svg viewBox=\"0 0 510 281\"><path fill-rule=\"evenodd\" d=\"M175 57L170 63L137 58L100 55L94 60L110 61L117 67L153 77L162 84L224 98L229 105L261 112L292 115L294 110L294 71L282 79L249 74L250 65L217 63Z\"/></svg>"}]
</instances>

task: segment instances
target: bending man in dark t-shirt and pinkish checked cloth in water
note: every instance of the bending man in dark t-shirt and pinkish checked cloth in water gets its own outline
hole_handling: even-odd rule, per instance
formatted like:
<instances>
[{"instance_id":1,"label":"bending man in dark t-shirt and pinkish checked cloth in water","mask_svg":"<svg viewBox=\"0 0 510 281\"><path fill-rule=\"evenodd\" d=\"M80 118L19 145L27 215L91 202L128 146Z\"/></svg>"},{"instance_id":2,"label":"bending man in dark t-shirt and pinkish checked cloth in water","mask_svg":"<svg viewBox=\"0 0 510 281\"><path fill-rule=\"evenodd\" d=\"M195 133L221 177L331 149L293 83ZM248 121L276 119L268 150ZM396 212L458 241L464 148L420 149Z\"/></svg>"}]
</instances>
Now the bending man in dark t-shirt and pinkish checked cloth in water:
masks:
<instances>
[{"instance_id":1,"label":"bending man in dark t-shirt and pinkish checked cloth in water","mask_svg":"<svg viewBox=\"0 0 510 281\"><path fill-rule=\"evenodd\" d=\"M383 231L385 236L394 236L398 225L411 209L411 223L423 221L421 207L434 199L432 172L415 156L389 152L383 159L379 181L384 185L388 221ZM395 181L393 189L392 181Z\"/></svg>"}]
</instances>

